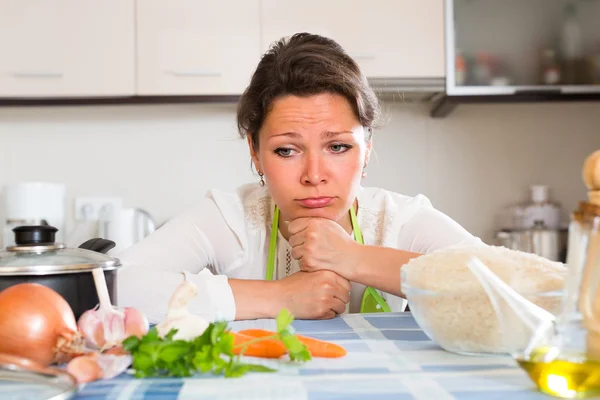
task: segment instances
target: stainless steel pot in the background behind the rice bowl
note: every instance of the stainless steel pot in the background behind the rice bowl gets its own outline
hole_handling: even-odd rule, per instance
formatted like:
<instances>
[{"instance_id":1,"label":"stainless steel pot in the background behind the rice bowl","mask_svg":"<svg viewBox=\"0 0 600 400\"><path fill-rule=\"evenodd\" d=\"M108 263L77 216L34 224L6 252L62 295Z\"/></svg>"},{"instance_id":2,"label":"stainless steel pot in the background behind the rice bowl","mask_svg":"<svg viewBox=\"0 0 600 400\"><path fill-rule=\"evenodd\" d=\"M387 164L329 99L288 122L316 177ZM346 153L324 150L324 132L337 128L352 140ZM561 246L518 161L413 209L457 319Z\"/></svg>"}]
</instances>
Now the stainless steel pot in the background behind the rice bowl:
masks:
<instances>
[{"instance_id":1,"label":"stainless steel pot in the background behind the rice bowl","mask_svg":"<svg viewBox=\"0 0 600 400\"><path fill-rule=\"evenodd\" d=\"M534 253L552 261L566 262L568 229L547 229L536 222L531 229L502 230L496 233L501 246Z\"/></svg>"}]
</instances>

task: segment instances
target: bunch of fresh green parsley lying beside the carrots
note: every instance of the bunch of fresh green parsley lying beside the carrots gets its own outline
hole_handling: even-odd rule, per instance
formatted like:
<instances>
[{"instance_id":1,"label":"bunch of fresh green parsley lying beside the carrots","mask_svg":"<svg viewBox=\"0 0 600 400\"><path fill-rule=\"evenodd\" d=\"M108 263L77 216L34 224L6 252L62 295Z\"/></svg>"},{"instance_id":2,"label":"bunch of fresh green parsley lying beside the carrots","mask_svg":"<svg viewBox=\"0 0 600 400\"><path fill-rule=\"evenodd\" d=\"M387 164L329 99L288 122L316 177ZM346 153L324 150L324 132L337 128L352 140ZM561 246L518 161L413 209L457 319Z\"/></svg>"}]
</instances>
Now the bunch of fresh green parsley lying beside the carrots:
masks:
<instances>
[{"instance_id":1,"label":"bunch of fresh green parsley lying beside the carrots","mask_svg":"<svg viewBox=\"0 0 600 400\"><path fill-rule=\"evenodd\" d=\"M293 320L288 310L281 310L276 320L277 334L244 343L242 353L252 343L278 339L287 348L291 361L310 360L308 349L298 340L291 326ZM275 371L262 365L242 363L240 355L233 353L234 337L226 322L209 324L201 336L189 341L174 340L176 333L177 330L172 329L161 338L156 327L152 327L142 338L130 336L123 341L123 348L133 357L136 377L188 377L200 372L233 378L248 372Z\"/></svg>"}]
</instances>

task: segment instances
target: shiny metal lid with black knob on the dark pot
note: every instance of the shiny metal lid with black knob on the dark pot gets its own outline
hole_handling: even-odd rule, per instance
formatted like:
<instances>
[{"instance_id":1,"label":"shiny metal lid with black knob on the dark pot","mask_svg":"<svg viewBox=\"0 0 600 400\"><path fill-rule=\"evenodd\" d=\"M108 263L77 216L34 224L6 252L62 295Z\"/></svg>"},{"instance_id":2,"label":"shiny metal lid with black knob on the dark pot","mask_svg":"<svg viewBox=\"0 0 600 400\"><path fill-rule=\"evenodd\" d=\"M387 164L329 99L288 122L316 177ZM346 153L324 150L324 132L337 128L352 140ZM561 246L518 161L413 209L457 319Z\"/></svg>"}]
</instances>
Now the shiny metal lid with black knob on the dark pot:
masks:
<instances>
[{"instance_id":1,"label":"shiny metal lid with black knob on the dark pot","mask_svg":"<svg viewBox=\"0 0 600 400\"><path fill-rule=\"evenodd\" d=\"M67 248L54 242L57 231L48 225L14 228L15 245L0 251L0 276L64 274L120 266L118 259L104 254L114 242L92 239L78 248Z\"/></svg>"}]
</instances>

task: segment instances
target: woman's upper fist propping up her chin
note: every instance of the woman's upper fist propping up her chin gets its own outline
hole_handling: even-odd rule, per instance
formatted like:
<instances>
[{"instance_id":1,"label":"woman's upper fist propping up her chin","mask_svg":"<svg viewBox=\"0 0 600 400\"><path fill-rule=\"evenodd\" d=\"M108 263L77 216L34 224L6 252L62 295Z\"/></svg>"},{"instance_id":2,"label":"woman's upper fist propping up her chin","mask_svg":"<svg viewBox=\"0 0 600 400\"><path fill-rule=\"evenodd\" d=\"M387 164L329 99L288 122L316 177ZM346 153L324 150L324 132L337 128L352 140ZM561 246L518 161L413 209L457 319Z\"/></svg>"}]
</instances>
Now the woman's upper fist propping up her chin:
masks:
<instances>
[{"instance_id":1,"label":"woman's upper fist propping up her chin","mask_svg":"<svg viewBox=\"0 0 600 400\"><path fill-rule=\"evenodd\" d=\"M354 280L359 244L336 222L325 218L298 218L288 225L292 257L306 272L330 270Z\"/></svg>"}]
</instances>

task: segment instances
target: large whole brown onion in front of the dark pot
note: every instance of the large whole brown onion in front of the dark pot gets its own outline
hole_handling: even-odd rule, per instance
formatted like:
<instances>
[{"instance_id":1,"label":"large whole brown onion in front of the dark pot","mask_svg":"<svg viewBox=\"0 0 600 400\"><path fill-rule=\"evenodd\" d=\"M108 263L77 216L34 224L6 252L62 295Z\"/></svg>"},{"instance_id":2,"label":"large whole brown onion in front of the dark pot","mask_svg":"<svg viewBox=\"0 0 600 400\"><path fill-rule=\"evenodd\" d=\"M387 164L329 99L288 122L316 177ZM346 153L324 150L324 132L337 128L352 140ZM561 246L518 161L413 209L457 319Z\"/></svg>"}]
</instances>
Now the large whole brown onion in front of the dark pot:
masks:
<instances>
[{"instance_id":1,"label":"large whole brown onion in front of the dark pot","mask_svg":"<svg viewBox=\"0 0 600 400\"><path fill-rule=\"evenodd\" d=\"M76 352L79 337L69 303L49 287L20 283L0 292L0 353L48 366Z\"/></svg>"}]
</instances>

